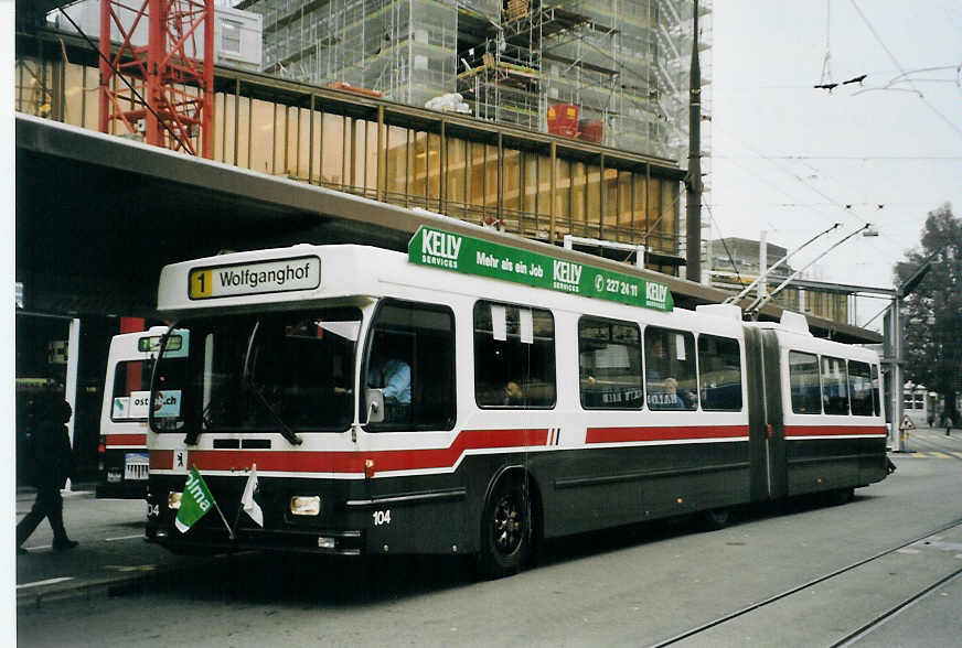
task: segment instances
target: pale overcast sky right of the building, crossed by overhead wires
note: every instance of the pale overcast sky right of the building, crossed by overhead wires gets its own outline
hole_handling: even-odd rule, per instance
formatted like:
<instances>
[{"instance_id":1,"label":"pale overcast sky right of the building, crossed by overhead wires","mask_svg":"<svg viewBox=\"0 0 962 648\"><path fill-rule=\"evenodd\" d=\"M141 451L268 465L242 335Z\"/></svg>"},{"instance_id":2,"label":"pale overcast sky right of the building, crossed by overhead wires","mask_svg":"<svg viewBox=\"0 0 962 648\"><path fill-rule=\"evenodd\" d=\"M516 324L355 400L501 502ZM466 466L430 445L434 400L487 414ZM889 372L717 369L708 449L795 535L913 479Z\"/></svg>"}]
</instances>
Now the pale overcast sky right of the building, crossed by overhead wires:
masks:
<instances>
[{"instance_id":1,"label":"pale overcast sky right of the building, crossed by overhead wires","mask_svg":"<svg viewBox=\"0 0 962 648\"><path fill-rule=\"evenodd\" d=\"M870 222L877 238L851 239L813 278L891 287L927 214L949 202L962 216L962 2L716 0L712 31L712 237L766 229L791 249ZM883 306L859 300L859 323Z\"/></svg>"}]
</instances>

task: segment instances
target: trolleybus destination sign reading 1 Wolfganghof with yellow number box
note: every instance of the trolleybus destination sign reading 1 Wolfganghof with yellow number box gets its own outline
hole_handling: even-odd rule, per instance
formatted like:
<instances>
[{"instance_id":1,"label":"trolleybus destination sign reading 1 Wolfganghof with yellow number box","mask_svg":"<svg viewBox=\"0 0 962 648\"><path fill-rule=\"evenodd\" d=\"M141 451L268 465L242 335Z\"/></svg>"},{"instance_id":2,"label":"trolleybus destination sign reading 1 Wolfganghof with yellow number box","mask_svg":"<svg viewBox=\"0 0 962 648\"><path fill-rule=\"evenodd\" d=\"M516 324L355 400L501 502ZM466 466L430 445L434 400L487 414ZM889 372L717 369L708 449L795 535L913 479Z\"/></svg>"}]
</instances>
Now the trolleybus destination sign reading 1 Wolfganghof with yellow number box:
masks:
<instances>
[{"instance_id":1,"label":"trolleybus destination sign reading 1 Wolfganghof with yellow number box","mask_svg":"<svg viewBox=\"0 0 962 648\"><path fill-rule=\"evenodd\" d=\"M188 294L192 300L313 290L321 284L321 260L298 257L229 266L192 268Z\"/></svg>"}]
</instances>

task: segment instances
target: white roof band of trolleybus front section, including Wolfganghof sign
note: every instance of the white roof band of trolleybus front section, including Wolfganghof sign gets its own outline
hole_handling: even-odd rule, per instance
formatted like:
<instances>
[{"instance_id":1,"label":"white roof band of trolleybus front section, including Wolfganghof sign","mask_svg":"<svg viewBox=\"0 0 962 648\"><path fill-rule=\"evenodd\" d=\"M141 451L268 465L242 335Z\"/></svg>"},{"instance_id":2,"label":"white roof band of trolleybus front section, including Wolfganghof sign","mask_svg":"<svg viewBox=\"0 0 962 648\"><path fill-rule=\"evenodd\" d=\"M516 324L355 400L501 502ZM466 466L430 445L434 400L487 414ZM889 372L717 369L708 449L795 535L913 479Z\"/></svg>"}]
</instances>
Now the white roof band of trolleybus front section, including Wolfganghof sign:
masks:
<instances>
[{"instance_id":1,"label":"white roof band of trolleybus front section, including Wolfganghof sign","mask_svg":"<svg viewBox=\"0 0 962 648\"><path fill-rule=\"evenodd\" d=\"M411 290L580 311L737 337L741 331L741 322L729 312L638 307L525 282L451 272L435 264L410 262L402 252L357 245L300 244L173 263L161 272L158 307L184 316L211 309L240 311L307 305L319 300L402 296L411 294Z\"/></svg>"}]
</instances>

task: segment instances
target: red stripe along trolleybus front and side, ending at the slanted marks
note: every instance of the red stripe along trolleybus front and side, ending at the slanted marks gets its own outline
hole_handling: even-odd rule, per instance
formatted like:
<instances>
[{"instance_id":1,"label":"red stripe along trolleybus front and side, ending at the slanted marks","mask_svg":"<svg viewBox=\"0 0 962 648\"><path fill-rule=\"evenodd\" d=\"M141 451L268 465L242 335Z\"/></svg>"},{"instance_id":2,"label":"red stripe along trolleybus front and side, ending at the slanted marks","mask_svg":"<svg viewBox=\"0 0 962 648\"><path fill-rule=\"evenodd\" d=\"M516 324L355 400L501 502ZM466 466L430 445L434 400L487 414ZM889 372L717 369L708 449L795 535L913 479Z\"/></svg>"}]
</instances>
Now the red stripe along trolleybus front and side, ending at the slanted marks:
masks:
<instances>
[{"instance_id":1,"label":"red stripe along trolleybus front and side, ending at the slanted marks","mask_svg":"<svg viewBox=\"0 0 962 648\"><path fill-rule=\"evenodd\" d=\"M375 473L449 468L468 450L547 445L544 430L463 430L448 447L381 451L297 451L297 450L191 450L188 461L199 471L247 469L256 463L260 472L289 473L364 473L365 462L373 461ZM156 455L156 457L154 457ZM173 467L173 451L152 451L150 467Z\"/></svg>"}]
</instances>

